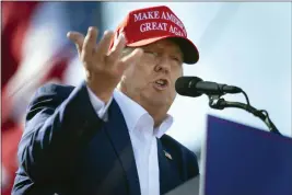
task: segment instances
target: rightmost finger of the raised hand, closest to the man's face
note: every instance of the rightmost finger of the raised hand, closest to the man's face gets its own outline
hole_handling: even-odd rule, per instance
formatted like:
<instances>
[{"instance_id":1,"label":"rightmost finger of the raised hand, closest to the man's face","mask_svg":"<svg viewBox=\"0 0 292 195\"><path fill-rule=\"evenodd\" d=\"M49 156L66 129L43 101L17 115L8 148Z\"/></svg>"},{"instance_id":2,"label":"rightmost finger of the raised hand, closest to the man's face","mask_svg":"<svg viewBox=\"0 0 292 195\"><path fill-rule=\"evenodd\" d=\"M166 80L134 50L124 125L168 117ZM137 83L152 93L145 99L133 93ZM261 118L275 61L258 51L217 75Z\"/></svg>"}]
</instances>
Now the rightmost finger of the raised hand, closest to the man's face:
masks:
<instances>
[{"instance_id":1,"label":"rightmost finger of the raised hand, closest to the man's face","mask_svg":"<svg viewBox=\"0 0 292 195\"><path fill-rule=\"evenodd\" d=\"M121 58L119 65L117 66L119 71L126 70L129 66L138 62L143 55L143 49L141 48L136 48L131 54L125 56Z\"/></svg>"}]
</instances>

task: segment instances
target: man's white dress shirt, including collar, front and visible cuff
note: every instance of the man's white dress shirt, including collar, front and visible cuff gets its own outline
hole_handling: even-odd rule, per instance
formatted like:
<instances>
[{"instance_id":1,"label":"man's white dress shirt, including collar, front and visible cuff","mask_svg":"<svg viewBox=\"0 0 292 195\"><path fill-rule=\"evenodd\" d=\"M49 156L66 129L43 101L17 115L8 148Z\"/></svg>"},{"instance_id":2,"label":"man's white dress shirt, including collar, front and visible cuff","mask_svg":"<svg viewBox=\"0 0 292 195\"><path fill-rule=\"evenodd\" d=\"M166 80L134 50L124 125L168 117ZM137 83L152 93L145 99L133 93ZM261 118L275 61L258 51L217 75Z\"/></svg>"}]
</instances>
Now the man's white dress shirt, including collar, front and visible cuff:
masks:
<instances>
[{"instance_id":1,"label":"man's white dress shirt, including collar, front and visible cuff","mask_svg":"<svg viewBox=\"0 0 292 195\"><path fill-rule=\"evenodd\" d=\"M91 103L100 118L107 121L107 110L113 97L119 105L125 117L137 165L141 195L160 195L160 168L157 159L157 140L173 124L173 117L166 119L155 129L154 121L138 103L122 92L115 90L107 104L102 102L87 88Z\"/></svg>"}]
</instances>

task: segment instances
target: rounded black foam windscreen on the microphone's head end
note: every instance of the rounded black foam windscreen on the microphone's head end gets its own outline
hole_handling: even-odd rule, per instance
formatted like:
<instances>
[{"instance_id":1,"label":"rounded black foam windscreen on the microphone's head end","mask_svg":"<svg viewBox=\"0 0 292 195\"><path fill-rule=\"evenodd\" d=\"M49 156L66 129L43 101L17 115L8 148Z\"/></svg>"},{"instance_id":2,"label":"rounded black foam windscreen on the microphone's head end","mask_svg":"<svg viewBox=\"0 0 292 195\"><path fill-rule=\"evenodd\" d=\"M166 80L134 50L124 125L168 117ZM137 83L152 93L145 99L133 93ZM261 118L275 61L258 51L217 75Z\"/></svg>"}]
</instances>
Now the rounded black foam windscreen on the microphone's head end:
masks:
<instances>
[{"instance_id":1,"label":"rounded black foam windscreen on the microphone's head end","mask_svg":"<svg viewBox=\"0 0 292 195\"><path fill-rule=\"evenodd\" d=\"M175 81L175 91L185 96L200 96L202 93L196 90L196 84L202 81L198 77L179 77Z\"/></svg>"}]
</instances>

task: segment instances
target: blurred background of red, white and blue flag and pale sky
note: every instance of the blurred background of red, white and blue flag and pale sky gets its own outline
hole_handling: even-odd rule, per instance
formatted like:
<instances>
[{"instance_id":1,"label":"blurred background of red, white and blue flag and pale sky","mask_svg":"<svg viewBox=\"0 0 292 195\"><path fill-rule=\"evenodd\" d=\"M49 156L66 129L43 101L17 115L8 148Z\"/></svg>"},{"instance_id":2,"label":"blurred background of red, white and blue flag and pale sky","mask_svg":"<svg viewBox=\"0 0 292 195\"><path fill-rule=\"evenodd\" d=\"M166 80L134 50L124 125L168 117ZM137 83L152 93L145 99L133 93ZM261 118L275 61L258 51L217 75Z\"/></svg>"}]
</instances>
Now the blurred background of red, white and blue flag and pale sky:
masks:
<instances>
[{"instance_id":1,"label":"blurred background of red, white and blue flag and pale sky","mask_svg":"<svg viewBox=\"0 0 292 195\"><path fill-rule=\"evenodd\" d=\"M168 5L200 53L185 76L241 87L279 130L291 129L291 2L1 2L1 187L10 194L26 106L46 82L78 85L82 66L66 34L115 30L131 10ZM243 95L225 100L244 102ZM214 111L208 97L177 96L168 135L200 157L208 114L267 130L240 110Z\"/></svg>"}]
</instances>

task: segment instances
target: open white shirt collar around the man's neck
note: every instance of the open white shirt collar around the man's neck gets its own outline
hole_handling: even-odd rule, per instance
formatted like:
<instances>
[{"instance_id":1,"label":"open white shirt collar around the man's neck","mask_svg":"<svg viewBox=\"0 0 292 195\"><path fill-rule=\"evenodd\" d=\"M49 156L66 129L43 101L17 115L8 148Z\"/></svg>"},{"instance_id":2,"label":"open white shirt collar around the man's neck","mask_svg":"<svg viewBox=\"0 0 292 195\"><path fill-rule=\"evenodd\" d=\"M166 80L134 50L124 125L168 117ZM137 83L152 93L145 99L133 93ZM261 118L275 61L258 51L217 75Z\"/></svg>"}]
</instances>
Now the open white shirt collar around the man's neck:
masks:
<instances>
[{"instance_id":1,"label":"open white shirt collar around the man's neck","mask_svg":"<svg viewBox=\"0 0 292 195\"><path fill-rule=\"evenodd\" d=\"M151 127L154 126L153 118L149 115L149 113L137 102L132 101L126 94L124 94L119 90L114 91L114 99L117 101L121 113L125 117L128 130L131 131L137 126L138 122L142 117L147 117L148 122L151 123ZM173 116L167 114L167 117L163 121L163 123L154 128L153 135L157 138L161 138L172 126Z\"/></svg>"}]
</instances>

